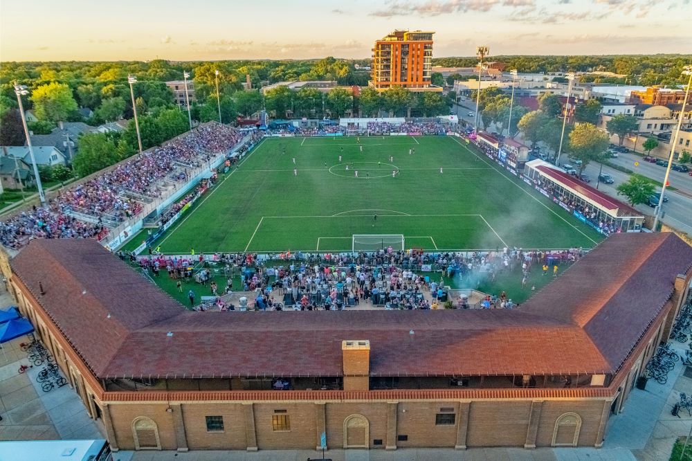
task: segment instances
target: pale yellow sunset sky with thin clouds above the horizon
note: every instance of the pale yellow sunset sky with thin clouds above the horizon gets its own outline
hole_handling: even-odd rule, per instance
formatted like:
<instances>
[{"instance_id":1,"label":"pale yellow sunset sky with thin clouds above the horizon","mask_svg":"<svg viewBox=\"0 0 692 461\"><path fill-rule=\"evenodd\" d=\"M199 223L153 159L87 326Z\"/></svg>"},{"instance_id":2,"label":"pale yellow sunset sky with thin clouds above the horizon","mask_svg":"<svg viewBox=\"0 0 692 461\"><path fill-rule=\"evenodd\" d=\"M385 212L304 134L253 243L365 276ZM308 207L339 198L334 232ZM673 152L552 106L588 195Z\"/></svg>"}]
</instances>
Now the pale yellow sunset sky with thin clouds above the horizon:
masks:
<instances>
[{"instance_id":1,"label":"pale yellow sunset sky with thin clouds above the horizon","mask_svg":"<svg viewBox=\"0 0 692 461\"><path fill-rule=\"evenodd\" d=\"M370 57L395 28L434 56L692 53L691 0L0 1L0 60Z\"/></svg>"}]
</instances>

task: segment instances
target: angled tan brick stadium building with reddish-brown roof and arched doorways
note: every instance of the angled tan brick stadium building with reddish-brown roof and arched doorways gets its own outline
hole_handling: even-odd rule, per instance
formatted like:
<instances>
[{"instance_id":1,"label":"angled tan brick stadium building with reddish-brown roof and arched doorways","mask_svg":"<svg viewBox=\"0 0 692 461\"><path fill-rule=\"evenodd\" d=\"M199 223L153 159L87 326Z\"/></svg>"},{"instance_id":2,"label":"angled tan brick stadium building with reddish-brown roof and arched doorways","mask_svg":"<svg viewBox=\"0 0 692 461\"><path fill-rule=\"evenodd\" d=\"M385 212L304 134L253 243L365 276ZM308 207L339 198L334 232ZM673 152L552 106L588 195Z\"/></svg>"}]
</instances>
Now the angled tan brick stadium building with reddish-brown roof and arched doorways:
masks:
<instances>
[{"instance_id":1,"label":"angled tan brick stadium building with reddish-brown roof and arched doorways","mask_svg":"<svg viewBox=\"0 0 692 461\"><path fill-rule=\"evenodd\" d=\"M692 248L613 235L512 311L187 311L89 239L0 267L113 449L532 448L601 446Z\"/></svg>"}]
</instances>

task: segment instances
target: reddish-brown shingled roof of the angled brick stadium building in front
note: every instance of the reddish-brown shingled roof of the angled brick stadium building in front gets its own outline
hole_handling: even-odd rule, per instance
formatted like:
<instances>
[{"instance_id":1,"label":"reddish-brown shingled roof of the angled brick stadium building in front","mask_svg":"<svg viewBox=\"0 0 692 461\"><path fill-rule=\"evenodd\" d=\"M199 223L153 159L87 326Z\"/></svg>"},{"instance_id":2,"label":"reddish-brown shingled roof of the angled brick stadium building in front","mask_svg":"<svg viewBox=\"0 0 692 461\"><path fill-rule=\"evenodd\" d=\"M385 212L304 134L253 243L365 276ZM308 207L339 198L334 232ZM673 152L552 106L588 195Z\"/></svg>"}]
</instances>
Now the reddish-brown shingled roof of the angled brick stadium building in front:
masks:
<instances>
[{"instance_id":1,"label":"reddish-brown shingled roof of the angled brick stadium building in front","mask_svg":"<svg viewBox=\"0 0 692 461\"><path fill-rule=\"evenodd\" d=\"M673 234L619 234L513 311L199 313L90 239L35 240L12 260L101 378L340 376L353 338L379 376L614 372L691 266Z\"/></svg>"}]
</instances>

